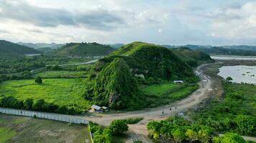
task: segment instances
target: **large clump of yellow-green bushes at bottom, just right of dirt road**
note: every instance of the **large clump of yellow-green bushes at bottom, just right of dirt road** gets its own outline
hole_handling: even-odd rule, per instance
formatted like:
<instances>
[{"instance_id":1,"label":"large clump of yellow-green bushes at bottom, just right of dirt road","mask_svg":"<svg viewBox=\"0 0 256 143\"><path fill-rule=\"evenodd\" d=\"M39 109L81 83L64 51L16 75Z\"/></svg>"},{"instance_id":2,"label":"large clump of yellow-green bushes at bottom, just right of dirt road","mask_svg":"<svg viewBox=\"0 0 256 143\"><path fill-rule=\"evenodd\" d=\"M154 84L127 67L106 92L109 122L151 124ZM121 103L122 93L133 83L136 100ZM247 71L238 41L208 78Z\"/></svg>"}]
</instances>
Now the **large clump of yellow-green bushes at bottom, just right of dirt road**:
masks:
<instances>
[{"instance_id":1,"label":"large clump of yellow-green bushes at bottom, just right of dirt road","mask_svg":"<svg viewBox=\"0 0 256 143\"><path fill-rule=\"evenodd\" d=\"M147 124L152 139L168 139L171 142L198 141L209 142L214 134L211 127L191 124L182 117L170 117L160 122Z\"/></svg>"}]
</instances>

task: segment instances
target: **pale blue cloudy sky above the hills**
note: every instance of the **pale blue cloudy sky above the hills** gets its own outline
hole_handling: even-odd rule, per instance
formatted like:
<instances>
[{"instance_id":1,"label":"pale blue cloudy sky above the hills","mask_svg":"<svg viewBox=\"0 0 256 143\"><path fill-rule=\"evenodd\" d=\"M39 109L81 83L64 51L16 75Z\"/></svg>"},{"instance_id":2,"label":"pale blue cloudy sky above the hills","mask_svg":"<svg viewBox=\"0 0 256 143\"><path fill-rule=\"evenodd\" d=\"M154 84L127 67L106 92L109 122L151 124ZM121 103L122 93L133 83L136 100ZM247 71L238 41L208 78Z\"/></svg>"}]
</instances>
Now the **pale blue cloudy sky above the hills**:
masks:
<instances>
[{"instance_id":1,"label":"pale blue cloudy sky above the hills","mask_svg":"<svg viewBox=\"0 0 256 143\"><path fill-rule=\"evenodd\" d=\"M0 39L256 45L256 1L0 0Z\"/></svg>"}]
</instances>

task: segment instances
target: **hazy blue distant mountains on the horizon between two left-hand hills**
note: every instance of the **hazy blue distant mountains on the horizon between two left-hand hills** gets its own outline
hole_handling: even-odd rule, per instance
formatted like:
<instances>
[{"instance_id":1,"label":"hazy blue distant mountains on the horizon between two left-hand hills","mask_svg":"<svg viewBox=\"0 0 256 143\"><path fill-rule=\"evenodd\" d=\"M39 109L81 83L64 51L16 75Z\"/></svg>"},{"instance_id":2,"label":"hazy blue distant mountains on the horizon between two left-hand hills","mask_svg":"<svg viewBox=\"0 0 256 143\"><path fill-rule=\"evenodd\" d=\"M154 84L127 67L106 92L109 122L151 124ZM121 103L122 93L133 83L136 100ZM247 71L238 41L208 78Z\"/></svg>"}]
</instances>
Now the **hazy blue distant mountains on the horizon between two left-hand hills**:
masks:
<instances>
[{"instance_id":1,"label":"hazy blue distant mountains on the horizon between two left-hand hills","mask_svg":"<svg viewBox=\"0 0 256 143\"><path fill-rule=\"evenodd\" d=\"M47 44L47 43L23 43L23 42L19 42L17 44L20 44L20 45L24 45L24 46L29 46L30 48L34 48L34 49L40 49L40 48L51 48L51 49L57 49L59 48L60 46L64 46L65 44L56 44L56 43L50 43L50 44Z\"/></svg>"}]
</instances>

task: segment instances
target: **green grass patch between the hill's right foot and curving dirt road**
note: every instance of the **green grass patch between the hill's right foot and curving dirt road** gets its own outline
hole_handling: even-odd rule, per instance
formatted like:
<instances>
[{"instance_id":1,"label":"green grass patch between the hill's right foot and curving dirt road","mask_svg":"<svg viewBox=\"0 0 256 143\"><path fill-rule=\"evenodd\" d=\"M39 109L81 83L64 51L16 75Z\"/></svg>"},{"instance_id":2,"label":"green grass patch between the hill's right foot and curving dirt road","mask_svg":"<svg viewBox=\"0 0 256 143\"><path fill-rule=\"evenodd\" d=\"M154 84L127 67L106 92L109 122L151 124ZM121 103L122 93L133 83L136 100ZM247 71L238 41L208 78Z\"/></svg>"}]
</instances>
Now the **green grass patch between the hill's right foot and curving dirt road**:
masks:
<instances>
[{"instance_id":1,"label":"green grass patch between the hill's right foot and curving dirt road","mask_svg":"<svg viewBox=\"0 0 256 143\"><path fill-rule=\"evenodd\" d=\"M196 91L198 84L173 84L165 83L151 86L140 86L140 90L147 95L145 102L151 103L150 107L169 104L183 99Z\"/></svg>"}]
</instances>

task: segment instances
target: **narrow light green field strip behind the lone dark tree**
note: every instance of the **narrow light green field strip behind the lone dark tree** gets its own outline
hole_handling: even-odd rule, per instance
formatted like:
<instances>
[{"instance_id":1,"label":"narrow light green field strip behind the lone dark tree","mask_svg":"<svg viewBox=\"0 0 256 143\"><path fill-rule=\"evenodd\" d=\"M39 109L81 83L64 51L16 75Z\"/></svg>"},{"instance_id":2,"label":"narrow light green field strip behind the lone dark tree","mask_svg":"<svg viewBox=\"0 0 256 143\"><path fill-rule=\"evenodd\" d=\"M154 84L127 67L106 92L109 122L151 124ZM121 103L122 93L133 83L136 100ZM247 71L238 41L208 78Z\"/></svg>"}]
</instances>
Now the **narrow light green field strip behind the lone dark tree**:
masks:
<instances>
[{"instance_id":1,"label":"narrow light green field strip behind the lone dark tree","mask_svg":"<svg viewBox=\"0 0 256 143\"><path fill-rule=\"evenodd\" d=\"M86 71L43 71L33 75L34 78L86 77Z\"/></svg>"}]
</instances>

